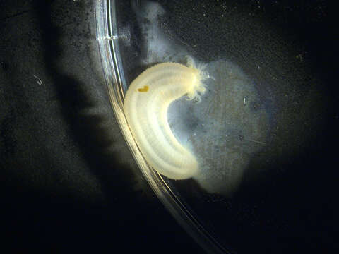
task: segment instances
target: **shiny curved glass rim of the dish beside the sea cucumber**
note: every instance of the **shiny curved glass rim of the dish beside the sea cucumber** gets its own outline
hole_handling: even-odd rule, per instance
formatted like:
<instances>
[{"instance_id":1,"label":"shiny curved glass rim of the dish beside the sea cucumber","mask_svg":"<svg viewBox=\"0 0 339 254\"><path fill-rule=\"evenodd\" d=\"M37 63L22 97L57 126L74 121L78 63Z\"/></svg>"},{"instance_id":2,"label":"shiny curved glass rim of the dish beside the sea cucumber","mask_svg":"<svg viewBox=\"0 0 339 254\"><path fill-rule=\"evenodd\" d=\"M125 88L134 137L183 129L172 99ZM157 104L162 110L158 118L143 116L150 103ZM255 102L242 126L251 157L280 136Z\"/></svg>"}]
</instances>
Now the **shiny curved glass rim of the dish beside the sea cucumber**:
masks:
<instances>
[{"instance_id":1,"label":"shiny curved glass rim of the dish beside the sea cucumber","mask_svg":"<svg viewBox=\"0 0 339 254\"><path fill-rule=\"evenodd\" d=\"M115 0L93 0L95 6L95 20L97 30L97 43L100 50L102 69L107 84L109 99L114 114L119 123L129 149L141 169L145 179L151 188L165 205L167 210L177 219L177 222L191 235L192 238L208 253L230 253L225 250L208 231L203 228L193 213L177 198L173 191L167 186L160 174L157 174L145 161L131 131L126 128L127 122L124 115L124 92L122 87L126 86L124 71L121 69L121 57L119 53L119 35L117 31L117 18ZM111 25L112 24L112 25Z\"/></svg>"}]
</instances>

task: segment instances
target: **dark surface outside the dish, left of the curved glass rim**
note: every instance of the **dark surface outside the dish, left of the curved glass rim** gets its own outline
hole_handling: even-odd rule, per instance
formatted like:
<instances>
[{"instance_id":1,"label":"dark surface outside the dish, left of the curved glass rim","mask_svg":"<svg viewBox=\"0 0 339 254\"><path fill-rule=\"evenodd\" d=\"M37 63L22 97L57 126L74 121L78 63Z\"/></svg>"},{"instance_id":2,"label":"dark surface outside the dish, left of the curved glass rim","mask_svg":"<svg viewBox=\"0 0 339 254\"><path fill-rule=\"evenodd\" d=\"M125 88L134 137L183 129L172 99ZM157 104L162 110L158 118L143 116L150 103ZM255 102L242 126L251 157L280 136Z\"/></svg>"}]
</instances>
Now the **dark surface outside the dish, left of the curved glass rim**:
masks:
<instances>
[{"instance_id":1,"label":"dark surface outside the dish, left of the curved glass rim","mask_svg":"<svg viewBox=\"0 0 339 254\"><path fill-rule=\"evenodd\" d=\"M120 136L94 22L93 1L0 1L0 252L199 253Z\"/></svg>"}]
</instances>

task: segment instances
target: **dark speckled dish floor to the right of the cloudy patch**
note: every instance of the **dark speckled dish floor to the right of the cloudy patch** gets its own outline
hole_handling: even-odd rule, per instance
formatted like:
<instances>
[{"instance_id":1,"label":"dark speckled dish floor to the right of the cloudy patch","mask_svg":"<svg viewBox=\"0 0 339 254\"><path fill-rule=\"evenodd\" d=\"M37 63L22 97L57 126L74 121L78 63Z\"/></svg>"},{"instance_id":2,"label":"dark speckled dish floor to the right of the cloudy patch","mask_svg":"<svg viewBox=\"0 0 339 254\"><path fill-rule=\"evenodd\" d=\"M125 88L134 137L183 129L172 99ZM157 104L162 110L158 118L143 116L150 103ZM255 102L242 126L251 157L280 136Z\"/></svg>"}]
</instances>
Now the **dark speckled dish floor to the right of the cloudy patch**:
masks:
<instances>
[{"instance_id":1,"label":"dark speckled dish floor to the right of the cloudy patch","mask_svg":"<svg viewBox=\"0 0 339 254\"><path fill-rule=\"evenodd\" d=\"M192 193L186 201L238 253L338 253L338 30L331 1L161 2L170 13L162 18L170 32L196 45L204 62L225 57L239 63L261 96L277 95L270 97L275 107L268 107L272 122L283 118L280 137L271 133L276 138L270 145L279 145L254 155L232 197L193 187L187 192L183 183L180 191ZM307 75L293 63L299 52L305 53ZM279 82L270 75L280 76ZM312 83L318 99L308 104L304 95ZM208 209L195 200L206 200Z\"/></svg>"}]
</instances>

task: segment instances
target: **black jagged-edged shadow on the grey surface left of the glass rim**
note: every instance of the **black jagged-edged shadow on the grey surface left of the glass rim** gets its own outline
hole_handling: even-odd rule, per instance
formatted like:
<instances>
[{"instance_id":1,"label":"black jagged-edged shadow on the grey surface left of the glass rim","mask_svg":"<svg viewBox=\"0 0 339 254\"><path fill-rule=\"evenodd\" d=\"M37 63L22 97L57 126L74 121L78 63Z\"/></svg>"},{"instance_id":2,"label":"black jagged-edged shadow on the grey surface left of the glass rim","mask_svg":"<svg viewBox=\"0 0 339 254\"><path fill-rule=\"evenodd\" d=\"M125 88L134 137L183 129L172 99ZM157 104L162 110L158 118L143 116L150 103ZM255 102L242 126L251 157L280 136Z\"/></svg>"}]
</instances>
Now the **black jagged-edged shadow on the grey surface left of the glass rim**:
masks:
<instances>
[{"instance_id":1,"label":"black jagged-edged shadow on the grey surface left of the glass rim","mask_svg":"<svg viewBox=\"0 0 339 254\"><path fill-rule=\"evenodd\" d=\"M11 191L4 198L4 204L10 205L4 210L4 229L12 252L34 249L44 253L101 253L117 248L124 253L146 249L156 253L166 246L162 253L172 253L177 248L199 253L196 243L169 217L160 202L145 202L145 190L133 187L141 173L133 172L120 158L107 152L114 144L114 140L107 140L112 136L103 124L107 116L86 113L97 105L84 90L85 85L58 68L63 51L58 43L62 31L52 21L52 2L55 1L32 1L44 45L43 66L53 80L61 113L70 129L68 135L99 179L105 200L93 202L88 197L90 201L86 202L67 192L42 193L30 186L3 186L6 192ZM44 181L44 176L39 177ZM145 188L150 191L148 186ZM174 245L167 245L169 232L175 234L171 236Z\"/></svg>"}]
</instances>

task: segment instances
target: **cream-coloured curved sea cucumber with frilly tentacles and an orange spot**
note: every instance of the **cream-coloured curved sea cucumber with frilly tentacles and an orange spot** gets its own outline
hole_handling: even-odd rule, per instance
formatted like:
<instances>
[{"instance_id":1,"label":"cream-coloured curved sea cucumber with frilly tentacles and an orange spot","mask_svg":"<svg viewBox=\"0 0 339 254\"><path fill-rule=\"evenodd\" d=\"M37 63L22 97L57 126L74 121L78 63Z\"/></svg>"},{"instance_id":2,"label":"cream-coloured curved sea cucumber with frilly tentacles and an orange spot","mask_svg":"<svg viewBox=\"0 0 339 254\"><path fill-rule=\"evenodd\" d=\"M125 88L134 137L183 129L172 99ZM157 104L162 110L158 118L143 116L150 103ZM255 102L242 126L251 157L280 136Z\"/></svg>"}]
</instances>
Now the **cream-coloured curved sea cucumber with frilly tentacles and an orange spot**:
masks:
<instances>
[{"instance_id":1,"label":"cream-coloured curved sea cucumber with frilly tentacles and an orange spot","mask_svg":"<svg viewBox=\"0 0 339 254\"><path fill-rule=\"evenodd\" d=\"M124 112L141 153L157 172L170 179L188 179L198 171L198 162L174 137L167 121L169 104L187 95L200 99L208 78L204 66L160 63L141 73L126 92Z\"/></svg>"}]
</instances>

